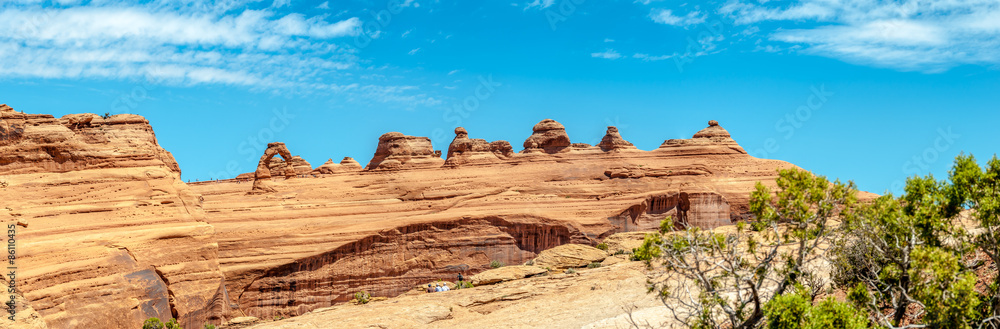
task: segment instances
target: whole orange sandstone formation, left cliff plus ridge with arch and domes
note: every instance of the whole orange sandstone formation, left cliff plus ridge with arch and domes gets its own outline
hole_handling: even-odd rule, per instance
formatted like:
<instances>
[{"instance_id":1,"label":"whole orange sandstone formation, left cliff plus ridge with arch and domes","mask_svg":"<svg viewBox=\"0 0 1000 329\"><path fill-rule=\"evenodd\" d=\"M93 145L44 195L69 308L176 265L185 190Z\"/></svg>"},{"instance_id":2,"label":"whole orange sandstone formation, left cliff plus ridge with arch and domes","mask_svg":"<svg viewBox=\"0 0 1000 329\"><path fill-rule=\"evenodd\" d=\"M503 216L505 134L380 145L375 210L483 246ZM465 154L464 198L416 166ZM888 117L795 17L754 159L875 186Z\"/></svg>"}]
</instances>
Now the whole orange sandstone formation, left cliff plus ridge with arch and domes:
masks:
<instances>
[{"instance_id":1,"label":"whole orange sandstone formation, left cliff plus ridge with arch and domes","mask_svg":"<svg viewBox=\"0 0 1000 329\"><path fill-rule=\"evenodd\" d=\"M181 182L142 117L0 113L0 178L9 183L0 218L29 224L24 297L53 328L106 327L93 314L108 312L131 327L149 316L177 316L185 327L297 316L361 290L396 296L473 276L493 260L546 263L546 250L655 228L667 215L711 228L745 218L754 184L774 187L776 169L794 167L747 155L717 125L653 151L605 152L571 147L546 120L525 153L551 156L494 142L488 152L503 161L447 168L429 139L389 133L369 170L330 161L317 171L334 174L270 182L280 189L267 184L271 160L294 161L272 143L251 190L271 192L248 194L236 180ZM469 142L456 136L462 154L450 158L487 155L457 132ZM598 259L567 248L587 255L574 266Z\"/></svg>"}]
</instances>

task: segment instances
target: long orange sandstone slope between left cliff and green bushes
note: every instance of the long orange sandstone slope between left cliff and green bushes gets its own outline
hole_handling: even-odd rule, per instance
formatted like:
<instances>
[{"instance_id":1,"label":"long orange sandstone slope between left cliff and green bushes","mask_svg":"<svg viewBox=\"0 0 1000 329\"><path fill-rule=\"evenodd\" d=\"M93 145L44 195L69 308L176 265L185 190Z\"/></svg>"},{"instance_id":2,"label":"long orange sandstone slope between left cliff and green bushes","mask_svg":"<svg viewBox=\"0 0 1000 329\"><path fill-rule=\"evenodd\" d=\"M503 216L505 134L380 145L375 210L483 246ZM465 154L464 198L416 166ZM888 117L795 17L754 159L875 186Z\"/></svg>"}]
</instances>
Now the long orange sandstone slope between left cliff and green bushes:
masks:
<instances>
[{"instance_id":1,"label":"long orange sandstone slope between left cliff and green bushes","mask_svg":"<svg viewBox=\"0 0 1000 329\"><path fill-rule=\"evenodd\" d=\"M387 134L369 166L377 170L276 178L274 193L247 195L234 182L193 185L216 229L232 303L246 315L294 316L357 291L394 296L485 271L493 260L521 264L558 245L594 245L655 228L667 215L703 227L731 224L746 217L755 182L773 186L776 169L794 167L753 158L719 134L653 151L565 147L474 166L381 166L415 153L413 140L426 157L429 140Z\"/></svg>"}]
</instances>

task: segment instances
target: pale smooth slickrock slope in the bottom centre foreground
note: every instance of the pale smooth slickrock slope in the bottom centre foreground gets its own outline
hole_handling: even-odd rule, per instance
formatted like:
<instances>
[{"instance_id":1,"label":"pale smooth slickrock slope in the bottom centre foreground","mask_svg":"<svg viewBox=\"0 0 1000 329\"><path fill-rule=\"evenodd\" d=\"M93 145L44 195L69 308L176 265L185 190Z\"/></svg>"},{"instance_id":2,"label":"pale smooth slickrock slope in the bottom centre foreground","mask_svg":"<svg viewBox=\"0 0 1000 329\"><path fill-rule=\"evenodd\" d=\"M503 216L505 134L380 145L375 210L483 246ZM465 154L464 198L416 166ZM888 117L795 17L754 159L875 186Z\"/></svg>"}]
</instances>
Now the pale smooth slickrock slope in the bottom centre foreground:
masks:
<instances>
[{"instance_id":1,"label":"pale smooth slickrock slope in the bottom centre foreground","mask_svg":"<svg viewBox=\"0 0 1000 329\"><path fill-rule=\"evenodd\" d=\"M624 262L365 305L340 304L248 329L617 329L631 327L629 312L640 325L677 325L656 294L646 293L646 279L641 262Z\"/></svg>"}]
</instances>

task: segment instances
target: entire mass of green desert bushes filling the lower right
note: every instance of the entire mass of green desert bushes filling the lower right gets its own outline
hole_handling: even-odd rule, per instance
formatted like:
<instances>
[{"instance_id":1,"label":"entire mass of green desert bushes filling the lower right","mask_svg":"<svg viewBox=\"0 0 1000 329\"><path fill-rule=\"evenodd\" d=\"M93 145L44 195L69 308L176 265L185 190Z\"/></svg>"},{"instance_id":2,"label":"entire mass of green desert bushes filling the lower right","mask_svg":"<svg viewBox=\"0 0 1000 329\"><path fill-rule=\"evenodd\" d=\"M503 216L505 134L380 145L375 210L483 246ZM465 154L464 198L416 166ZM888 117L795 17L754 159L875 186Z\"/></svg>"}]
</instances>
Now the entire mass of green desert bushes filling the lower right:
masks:
<instances>
[{"instance_id":1,"label":"entire mass of green desert bushes filling the lower right","mask_svg":"<svg viewBox=\"0 0 1000 329\"><path fill-rule=\"evenodd\" d=\"M649 290L691 328L1000 327L1000 160L955 159L858 203L853 183L781 170L755 219L702 230L664 220L633 251Z\"/></svg>"}]
</instances>

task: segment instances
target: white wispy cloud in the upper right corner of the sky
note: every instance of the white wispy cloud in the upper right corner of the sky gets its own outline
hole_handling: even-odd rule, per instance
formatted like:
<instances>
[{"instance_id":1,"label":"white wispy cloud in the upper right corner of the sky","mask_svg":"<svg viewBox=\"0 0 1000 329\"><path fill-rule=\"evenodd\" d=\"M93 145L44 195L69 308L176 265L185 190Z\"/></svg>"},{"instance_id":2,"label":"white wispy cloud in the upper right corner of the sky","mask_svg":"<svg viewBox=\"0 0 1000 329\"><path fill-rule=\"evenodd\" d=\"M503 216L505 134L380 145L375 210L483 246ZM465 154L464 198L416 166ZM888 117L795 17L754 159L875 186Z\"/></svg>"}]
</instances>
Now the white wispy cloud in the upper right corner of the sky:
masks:
<instances>
[{"instance_id":1,"label":"white wispy cloud in the upper right corner of the sky","mask_svg":"<svg viewBox=\"0 0 1000 329\"><path fill-rule=\"evenodd\" d=\"M1000 63L997 1L800 0L785 4L738 0L719 12L737 24L776 24L777 28L764 31L771 41L802 45L802 52L861 65L937 72L962 64Z\"/></svg>"}]
</instances>

